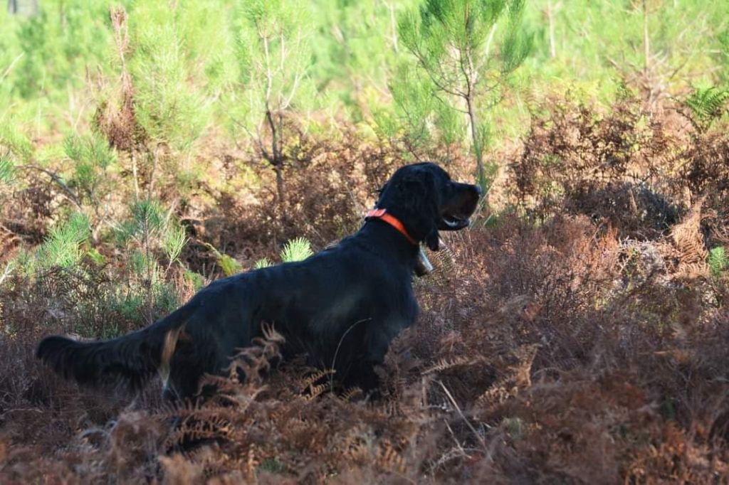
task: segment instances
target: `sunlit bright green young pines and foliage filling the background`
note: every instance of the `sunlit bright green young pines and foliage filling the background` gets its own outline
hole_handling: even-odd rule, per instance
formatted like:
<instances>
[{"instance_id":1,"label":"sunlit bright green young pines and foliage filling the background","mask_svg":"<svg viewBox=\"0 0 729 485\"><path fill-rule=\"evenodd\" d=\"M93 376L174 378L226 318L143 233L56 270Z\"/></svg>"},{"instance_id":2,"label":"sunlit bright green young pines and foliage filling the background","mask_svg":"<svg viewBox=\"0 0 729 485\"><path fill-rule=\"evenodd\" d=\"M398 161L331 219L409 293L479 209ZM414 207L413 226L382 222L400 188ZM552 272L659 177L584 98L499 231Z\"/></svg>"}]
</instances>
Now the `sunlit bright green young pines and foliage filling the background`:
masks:
<instances>
[{"instance_id":1,"label":"sunlit bright green young pines and foliage filling the background","mask_svg":"<svg viewBox=\"0 0 729 485\"><path fill-rule=\"evenodd\" d=\"M235 194L259 183L214 176L215 147L276 165L295 158L287 143L303 134L338 139L354 130L384 145L406 140L402 162L418 153L448 165L474 158L478 141L496 173L504 162L489 149L526 133L537 101L550 95L603 106L626 90L647 103L679 100L702 131L726 116L728 2L446 4L456 13L481 6L478 18L488 17L457 25L459 15L446 15L461 29L456 43L480 33L475 60L486 79L499 79L476 99L476 134L461 102L438 95L412 54L413 43L440 32L421 23L445 12L443 2L42 0L38 15L0 9L0 198L12 203L31 175L47 177L64 198L44 242L14 267L32 274L87 259L105 264L97 251L104 242L123 256L125 294L154 306L156 293L171 291L174 268L184 267L188 242L169 195L186 204L196 184ZM119 25L112 11L124 12ZM428 42L448 55L437 39ZM119 122L125 109L131 125ZM292 119L298 131L284 126ZM272 130L278 154L267 141ZM223 275L248 269L204 244ZM262 256L253 258L259 267L268 264ZM209 276L184 270L195 288Z\"/></svg>"}]
</instances>

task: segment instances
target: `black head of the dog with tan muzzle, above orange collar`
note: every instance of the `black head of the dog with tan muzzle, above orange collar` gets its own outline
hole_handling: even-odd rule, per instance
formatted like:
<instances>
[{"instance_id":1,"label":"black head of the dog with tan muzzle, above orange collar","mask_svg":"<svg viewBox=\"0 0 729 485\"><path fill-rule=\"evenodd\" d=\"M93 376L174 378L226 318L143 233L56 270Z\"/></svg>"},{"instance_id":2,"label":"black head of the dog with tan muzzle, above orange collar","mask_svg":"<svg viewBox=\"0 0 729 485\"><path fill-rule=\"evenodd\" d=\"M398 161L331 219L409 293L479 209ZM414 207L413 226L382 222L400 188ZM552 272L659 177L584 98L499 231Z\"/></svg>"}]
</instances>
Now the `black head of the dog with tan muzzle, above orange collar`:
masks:
<instances>
[{"instance_id":1,"label":"black head of the dog with tan muzzle, above orange collar","mask_svg":"<svg viewBox=\"0 0 729 485\"><path fill-rule=\"evenodd\" d=\"M399 218L416 241L437 251L438 230L468 226L480 195L478 186L452 181L434 163L416 163L393 174L380 191L377 207Z\"/></svg>"}]
</instances>

